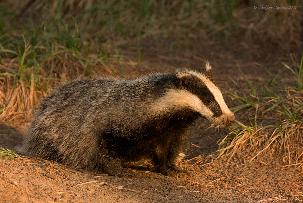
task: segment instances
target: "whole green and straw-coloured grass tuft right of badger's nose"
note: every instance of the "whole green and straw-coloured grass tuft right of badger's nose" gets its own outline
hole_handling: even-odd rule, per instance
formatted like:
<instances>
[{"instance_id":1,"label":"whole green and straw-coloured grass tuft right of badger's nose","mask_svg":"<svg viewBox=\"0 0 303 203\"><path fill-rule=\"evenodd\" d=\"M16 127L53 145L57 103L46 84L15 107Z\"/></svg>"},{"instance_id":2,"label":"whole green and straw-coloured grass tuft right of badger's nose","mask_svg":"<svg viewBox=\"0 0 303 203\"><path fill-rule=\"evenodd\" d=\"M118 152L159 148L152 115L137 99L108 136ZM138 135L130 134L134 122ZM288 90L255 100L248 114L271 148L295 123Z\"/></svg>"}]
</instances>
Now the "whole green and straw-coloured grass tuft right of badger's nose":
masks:
<instances>
[{"instance_id":1,"label":"whole green and straw-coloured grass tuft right of badger's nose","mask_svg":"<svg viewBox=\"0 0 303 203\"><path fill-rule=\"evenodd\" d=\"M291 59L293 60L292 55ZM290 83L285 78L270 74L272 78L269 79L269 83L257 87L244 77L250 87L251 96L243 94L241 97L237 93L229 93L241 103L236 109L248 108L246 113L249 117L254 114L254 120L248 119L249 124L237 121L237 124L229 128L230 133L218 141L218 157L233 156L239 147L248 150L260 148L249 161L264 154L271 154L281 158L283 163L299 165L298 167L303 169L303 95L300 82L303 71L302 59L303 57L300 65L293 63L293 68L284 63L284 66L294 73ZM240 91L244 92L241 89ZM259 94L264 97L259 98ZM252 111L253 109L255 110ZM272 118L266 125L257 122L257 118L262 118L263 115Z\"/></svg>"}]
</instances>

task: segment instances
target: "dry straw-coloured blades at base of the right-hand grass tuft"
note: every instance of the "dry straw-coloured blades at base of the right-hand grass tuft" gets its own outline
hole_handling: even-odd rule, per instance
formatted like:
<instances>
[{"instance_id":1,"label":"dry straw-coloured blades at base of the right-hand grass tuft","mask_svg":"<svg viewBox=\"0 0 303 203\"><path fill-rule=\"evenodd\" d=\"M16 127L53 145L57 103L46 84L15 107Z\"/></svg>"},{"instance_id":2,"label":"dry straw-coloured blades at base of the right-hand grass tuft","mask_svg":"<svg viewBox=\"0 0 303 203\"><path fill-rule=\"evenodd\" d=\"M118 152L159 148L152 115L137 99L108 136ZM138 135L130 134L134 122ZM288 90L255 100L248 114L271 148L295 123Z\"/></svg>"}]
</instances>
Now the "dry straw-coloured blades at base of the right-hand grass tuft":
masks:
<instances>
[{"instance_id":1,"label":"dry straw-coloured blades at base of the right-hand grass tuft","mask_svg":"<svg viewBox=\"0 0 303 203\"><path fill-rule=\"evenodd\" d=\"M268 126L266 130L262 126L242 127L221 140L219 145L222 145L231 134L237 134L231 139L228 146L218 150L218 157L223 154L232 157L237 150L243 147L248 151L261 147L261 150L248 160L249 162L257 156L271 154L272 156L281 157L283 163L287 164L284 167L296 166L296 168L303 169L303 123L300 120L292 122L284 120L281 125L277 127Z\"/></svg>"}]
</instances>

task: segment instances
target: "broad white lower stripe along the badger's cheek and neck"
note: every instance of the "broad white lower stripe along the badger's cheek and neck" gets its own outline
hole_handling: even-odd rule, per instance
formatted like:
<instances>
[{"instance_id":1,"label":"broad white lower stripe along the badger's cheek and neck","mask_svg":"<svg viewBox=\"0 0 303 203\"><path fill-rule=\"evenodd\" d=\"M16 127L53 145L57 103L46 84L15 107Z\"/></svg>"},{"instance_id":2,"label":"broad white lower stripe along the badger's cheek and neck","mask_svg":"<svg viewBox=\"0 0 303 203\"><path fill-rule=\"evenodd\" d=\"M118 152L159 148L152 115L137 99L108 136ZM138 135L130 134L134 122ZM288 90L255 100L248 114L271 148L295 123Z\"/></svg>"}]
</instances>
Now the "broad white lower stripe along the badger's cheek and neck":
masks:
<instances>
[{"instance_id":1,"label":"broad white lower stripe along the badger's cheek and neck","mask_svg":"<svg viewBox=\"0 0 303 203\"><path fill-rule=\"evenodd\" d=\"M157 103L152 107L152 111L154 114L160 115L169 112L171 109L181 109L184 107L199 112L208 119L211 119L214 115L214 113L202 103L198 96L187 90L177 89L169 89L164 96L158 99Z\"/></svg>"}]
</instances>

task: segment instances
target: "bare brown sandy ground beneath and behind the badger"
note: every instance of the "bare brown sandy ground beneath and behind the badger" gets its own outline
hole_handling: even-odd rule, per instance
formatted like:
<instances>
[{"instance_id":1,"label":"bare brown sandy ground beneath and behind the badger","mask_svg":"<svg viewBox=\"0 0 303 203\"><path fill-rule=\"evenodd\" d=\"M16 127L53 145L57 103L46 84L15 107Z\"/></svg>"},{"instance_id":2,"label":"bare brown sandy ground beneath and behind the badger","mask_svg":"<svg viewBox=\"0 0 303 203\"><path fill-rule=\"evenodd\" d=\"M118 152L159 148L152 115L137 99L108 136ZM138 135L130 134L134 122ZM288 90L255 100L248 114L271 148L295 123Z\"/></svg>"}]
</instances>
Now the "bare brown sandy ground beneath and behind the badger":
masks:
<instances>
[{"instance_id":1,"label":"bare brown sandy ground beneath and behind the badger","mask_svg":"<svg viewBox=\"0 0 303 203\"><path fill-rule=\"evenodd\" d=\"M208 43L192 44L189 51L167 52L146 42L143 61L138 66L136 51L121 48L125 75L134 78L151 71L165 72L177 68L203 65L208 59L214 69L218 85L236 90L228 78L243 81L237 63L255 82L268 78L266 71L289 62L288 53L272 46L251 48L227 42L225 46ZM256 47L256 46L255 46ZM260 47L260 46L258 46ZM301 55L298 53L297 57ZM106 74L106 73L105 73ZM235 101L224 93L228 106ZM241 117L241 112L236 114ZM0 124L0 146L18 150L22 135L31 118L15 123ZM241 121L241 120L240 120ZM243 120L242 120L243 121ZM102 171L71 168L54 161L33 157L18 160L0 159L0 202L301 202L303 176L291 167L281 167L277 157L257 157L248 163L256 151L242 148L229 157L216 159L217 141L228 133L228 127L211 126L205 119L198 120L188 137L188 144L179 157L179 167L190 171L190 180L181 180L153 173L148 162L128 163L132 174L117 178ZM49 176L50 174L52 176ZM47 177L49 176L49 177ZM52 179L54 178L54 179Z\"/></svg>"}]
</instances>

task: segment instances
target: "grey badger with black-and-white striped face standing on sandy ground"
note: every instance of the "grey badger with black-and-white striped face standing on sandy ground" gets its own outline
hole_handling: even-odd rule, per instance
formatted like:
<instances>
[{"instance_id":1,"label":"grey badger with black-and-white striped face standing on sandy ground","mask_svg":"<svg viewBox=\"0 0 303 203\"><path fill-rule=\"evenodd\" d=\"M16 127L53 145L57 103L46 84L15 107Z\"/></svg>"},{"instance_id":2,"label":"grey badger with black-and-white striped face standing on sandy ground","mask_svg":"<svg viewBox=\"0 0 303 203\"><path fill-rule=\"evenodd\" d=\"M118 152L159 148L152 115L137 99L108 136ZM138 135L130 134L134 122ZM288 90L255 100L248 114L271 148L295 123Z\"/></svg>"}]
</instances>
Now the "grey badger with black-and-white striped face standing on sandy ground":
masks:
<instances>
[{"instance_id":1,"label":"grey badger with black-and-white striped face standing on sandy ground","mask_svg":"<svg viewBox=\"0 0 303 203\"><path fill-rule=\"evenodd\" d=\"M149 159L156 172L190 178L175 160L199 117L218 125L235 120L209 63L134 80L78 79L40 102L23 151L119 177L129 171L124 162Z\"/></svg>"}]
</instances>

